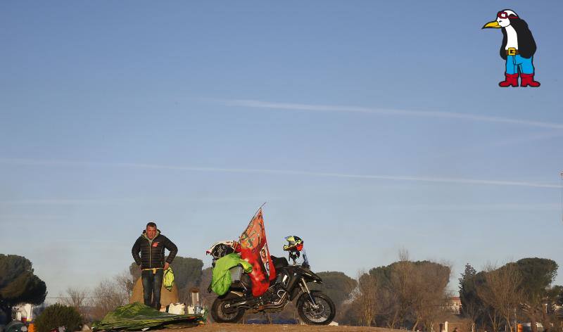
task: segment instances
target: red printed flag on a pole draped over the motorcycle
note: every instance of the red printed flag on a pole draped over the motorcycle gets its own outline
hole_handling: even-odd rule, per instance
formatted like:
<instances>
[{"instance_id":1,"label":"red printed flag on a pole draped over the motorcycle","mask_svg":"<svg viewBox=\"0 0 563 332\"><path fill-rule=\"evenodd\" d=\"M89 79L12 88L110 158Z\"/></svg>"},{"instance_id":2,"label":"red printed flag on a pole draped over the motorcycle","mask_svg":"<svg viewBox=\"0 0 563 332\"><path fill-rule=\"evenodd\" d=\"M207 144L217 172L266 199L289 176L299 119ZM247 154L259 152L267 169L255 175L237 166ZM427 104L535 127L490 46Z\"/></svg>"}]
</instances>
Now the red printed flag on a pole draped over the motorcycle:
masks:
<instances>
[{"instance_id":1,"label":"red printed flag on a pole draped over the motorcycle","mask_svg":"<svg viewBox=\"0 0 563 332\"><path fill-rule=\"evenodd\" d=\"M266 241L262 208L241 234L240 243L242 259L252 265L252 295L260 296L270 286L270 280L276 278L276 270Z\"/></svg>"}]
</instances>

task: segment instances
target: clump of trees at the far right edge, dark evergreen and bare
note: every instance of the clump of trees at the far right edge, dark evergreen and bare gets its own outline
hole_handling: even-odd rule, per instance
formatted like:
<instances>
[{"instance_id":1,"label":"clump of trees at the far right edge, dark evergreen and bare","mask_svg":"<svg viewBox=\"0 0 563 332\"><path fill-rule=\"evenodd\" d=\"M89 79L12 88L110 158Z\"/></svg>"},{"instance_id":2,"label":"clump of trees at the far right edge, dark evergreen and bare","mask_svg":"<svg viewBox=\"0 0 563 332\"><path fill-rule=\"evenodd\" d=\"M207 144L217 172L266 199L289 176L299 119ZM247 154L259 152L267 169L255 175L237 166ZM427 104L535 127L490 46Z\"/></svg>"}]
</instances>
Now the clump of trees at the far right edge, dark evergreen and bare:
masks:
<instances>
[{"instance_id":1,"label":"clump of trees at the far right edge, dark evergreen and bare","mask_svg":"<svg viewBox=\"0 0 563 332\"><path fill-rule=\"evenodd\" d=\"M563 286L552 285L557 263L545 258L525 258L501 267L488 264L476 272L470 265L459 279L462 314L486 331L515 331L519 321L537 323L543 331L563 331Z\"/></svg>"}]
</instances>

